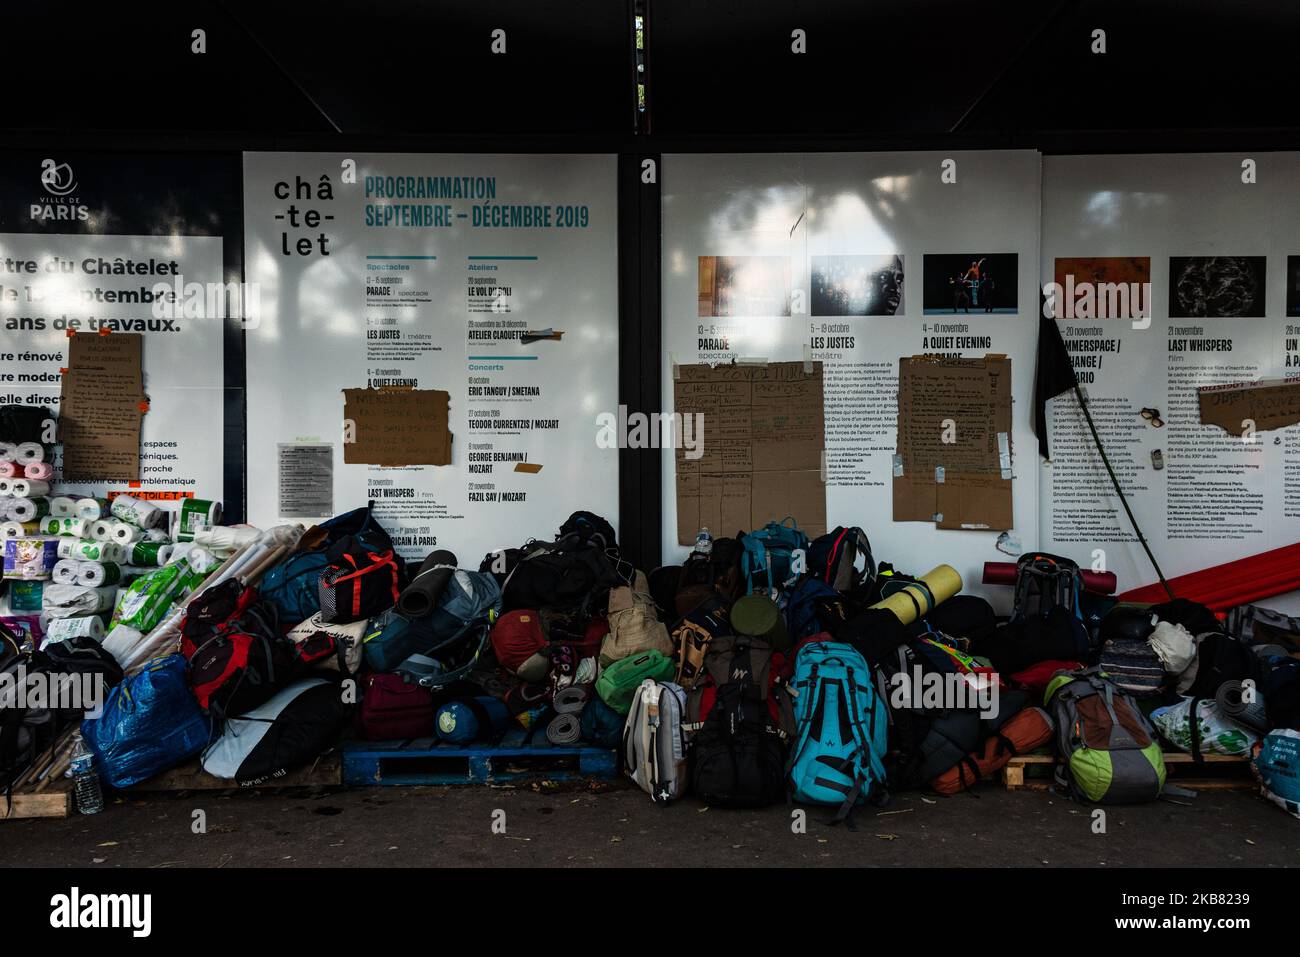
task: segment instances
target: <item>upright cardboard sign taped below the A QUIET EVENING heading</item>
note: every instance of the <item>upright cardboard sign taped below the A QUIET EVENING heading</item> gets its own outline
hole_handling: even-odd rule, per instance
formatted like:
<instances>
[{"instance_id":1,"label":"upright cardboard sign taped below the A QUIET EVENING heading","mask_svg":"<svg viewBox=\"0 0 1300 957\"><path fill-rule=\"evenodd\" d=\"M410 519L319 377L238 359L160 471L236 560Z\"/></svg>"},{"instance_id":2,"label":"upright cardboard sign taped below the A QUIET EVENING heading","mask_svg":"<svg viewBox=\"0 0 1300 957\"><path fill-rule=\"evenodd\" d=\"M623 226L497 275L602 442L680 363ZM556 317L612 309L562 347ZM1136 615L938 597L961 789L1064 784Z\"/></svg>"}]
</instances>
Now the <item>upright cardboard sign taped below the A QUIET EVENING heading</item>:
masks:
<instances>
[{"instance_id":1,"label":"upright cardboard sign taped below the A QUIET EVENING heading","mask_svg":"<svg viewBox=\"0 0 1300 957\"><path fill-rule=\"evenodd\" d=\"M1010 359L901 359L894 521L1010 528Z\"/></svg>"}]
</instances>

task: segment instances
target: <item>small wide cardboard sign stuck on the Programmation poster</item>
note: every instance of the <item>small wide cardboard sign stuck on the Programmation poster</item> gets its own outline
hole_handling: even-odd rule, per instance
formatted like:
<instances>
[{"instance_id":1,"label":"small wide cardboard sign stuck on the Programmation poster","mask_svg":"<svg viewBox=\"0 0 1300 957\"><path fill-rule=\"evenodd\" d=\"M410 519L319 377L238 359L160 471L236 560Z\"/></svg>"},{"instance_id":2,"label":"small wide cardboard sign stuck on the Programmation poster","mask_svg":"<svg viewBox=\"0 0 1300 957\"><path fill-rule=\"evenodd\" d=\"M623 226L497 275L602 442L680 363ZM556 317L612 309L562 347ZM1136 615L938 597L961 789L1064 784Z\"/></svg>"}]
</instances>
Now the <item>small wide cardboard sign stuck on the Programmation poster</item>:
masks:
<instances>
[{"instance_id":1,"label":"small wide cardboard sign stuck on the Programmation poster","mask_svg":"<svg viewBox=\"0 0 1300 957\"><path fill-rule=\"evenodd\" d=\"M451 397L437 389L344 389L343 462L450 465L450 404Z\"/></svg>"}]
</instances>

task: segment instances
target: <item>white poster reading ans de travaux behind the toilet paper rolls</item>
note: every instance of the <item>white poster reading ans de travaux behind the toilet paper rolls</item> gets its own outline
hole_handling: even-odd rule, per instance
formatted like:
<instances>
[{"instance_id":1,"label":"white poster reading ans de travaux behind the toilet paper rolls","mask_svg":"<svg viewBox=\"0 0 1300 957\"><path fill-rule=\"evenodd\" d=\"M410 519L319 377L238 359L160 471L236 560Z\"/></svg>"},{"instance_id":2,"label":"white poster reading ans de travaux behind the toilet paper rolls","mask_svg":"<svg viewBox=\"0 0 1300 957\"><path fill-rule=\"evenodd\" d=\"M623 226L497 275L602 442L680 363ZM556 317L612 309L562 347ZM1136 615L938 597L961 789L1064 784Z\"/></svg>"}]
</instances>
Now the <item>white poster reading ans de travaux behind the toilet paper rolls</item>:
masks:
<instances>
[{"instance_id":1,"label":"white poster reading ans de travaux behind the toilet paper rolls","mask_svg":"<svg viewBox=\"0 0 1300 957\"><path fill-rule=\"evenodd\" d=\"M58 413L69 332L143 335L140 481L65 482L56 458L61 494L221 498L224 313L220 237L0 234L0 404Z\"/></svg>"}]
</instances>

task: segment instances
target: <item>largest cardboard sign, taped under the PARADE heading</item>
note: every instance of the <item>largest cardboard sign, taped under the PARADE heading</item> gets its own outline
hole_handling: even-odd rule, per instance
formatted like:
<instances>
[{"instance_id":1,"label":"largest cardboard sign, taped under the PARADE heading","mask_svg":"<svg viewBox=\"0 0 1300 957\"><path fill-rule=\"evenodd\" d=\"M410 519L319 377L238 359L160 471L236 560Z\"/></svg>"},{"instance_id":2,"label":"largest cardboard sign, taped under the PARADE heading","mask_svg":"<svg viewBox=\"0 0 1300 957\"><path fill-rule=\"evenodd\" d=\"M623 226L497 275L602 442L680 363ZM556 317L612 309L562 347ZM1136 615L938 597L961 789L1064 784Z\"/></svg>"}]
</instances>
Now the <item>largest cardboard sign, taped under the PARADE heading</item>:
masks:
<instances>
[{"instance_id":1,"label":"largest cardboard sign, taped under the PARADE heading","mask_svg":"<svg viewBox=\"0 0 1300 957\"><path fill-rule=\"evenodd\" d=\"M732 536L786 515L811 537L826 532L822 363L681 365L673 411L696 443L675 452L681 545L701 528Z\"/></svg>"}]
</instances>

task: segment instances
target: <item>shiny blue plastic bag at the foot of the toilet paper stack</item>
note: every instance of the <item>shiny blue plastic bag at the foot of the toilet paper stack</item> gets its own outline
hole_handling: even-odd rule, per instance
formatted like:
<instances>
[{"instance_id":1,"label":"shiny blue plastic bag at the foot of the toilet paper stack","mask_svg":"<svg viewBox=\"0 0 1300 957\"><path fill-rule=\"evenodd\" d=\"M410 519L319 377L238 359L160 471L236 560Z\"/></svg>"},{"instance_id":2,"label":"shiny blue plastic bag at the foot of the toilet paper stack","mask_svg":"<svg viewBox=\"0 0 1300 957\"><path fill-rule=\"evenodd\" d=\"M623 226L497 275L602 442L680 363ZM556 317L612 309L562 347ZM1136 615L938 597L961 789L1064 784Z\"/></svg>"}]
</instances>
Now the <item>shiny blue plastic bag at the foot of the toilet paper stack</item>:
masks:
<instances>
[{"instance_id":1,"label":"shiny blue plastic bag at the foot of the toilet paper stack","mask_svg":"<svg viewBox=\"0 0 1300 957\"><path fill-rule=\"evenodd\" d=\"M207 746L209 733L179 654L155 658L124 679L108 693L103 715L82 722L95 770L114 788L129 788L192 758Z\"/></svg>"}]
</instances>

